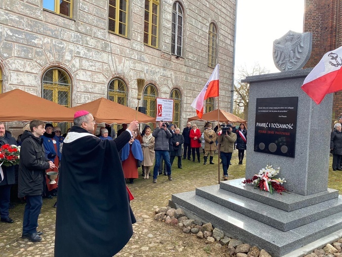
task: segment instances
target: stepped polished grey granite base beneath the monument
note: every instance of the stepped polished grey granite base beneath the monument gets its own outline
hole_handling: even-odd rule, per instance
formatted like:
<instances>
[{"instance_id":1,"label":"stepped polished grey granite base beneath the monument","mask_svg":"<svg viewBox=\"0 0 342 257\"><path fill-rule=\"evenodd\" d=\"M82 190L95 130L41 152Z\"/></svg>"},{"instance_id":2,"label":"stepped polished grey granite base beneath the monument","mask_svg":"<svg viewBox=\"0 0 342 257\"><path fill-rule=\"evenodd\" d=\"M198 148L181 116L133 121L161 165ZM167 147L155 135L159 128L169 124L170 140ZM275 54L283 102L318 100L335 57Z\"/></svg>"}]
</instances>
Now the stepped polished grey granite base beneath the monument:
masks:
<instances>
[{"instance_id":1,"label":"stepped polished grey granite base beneath the monument","mask_svg":"<svg viewBox=\"0 0 342 257\"><path fill-rule=\"evenodd\" d=\"M189 217L211 222L227 236L257 245L274 257L342 229L342 198L337 190L271 195L242 180L174 194L172 201Z\"/></svg>"}]
</instances>

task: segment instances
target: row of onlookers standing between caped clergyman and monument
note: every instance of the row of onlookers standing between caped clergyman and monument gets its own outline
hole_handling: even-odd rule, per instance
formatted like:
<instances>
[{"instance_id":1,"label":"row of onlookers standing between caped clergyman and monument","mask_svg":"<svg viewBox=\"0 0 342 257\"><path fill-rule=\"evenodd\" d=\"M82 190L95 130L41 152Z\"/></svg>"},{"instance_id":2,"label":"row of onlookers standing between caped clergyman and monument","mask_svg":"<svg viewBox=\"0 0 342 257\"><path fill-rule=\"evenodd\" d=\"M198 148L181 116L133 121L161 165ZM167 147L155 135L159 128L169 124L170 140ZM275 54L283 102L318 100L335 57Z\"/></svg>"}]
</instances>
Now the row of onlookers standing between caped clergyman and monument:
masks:
<instances>
[{"instance_id":1,"label":"row of onlookers standing between caped clergyman and monument","mask_svg":"<svg viewBox=\"0 0 342 257\"><path fill-rule=\"evenodd\" d=\"M222 131L224 131L223 134ZM221 134L222 136L219 137ZM243 123L238 128L234 124L223 123L212 129L212 124L208 122L201 131L196 124L188 122L181 133L177 125L160 121L154 130L147 125L141 134L138 130L135 131L132 140L127 143L127 149L128 144L131 150L125 151L121 157L125 178L129 179L131 184L134 183L135 178L139 177L137 168L140 166L144 179L149 179L153 163L153 183L157 182L158 175L162 173L167 176L168 180L172 180L171 171L175 158L178 159L178 169L182 169L182 160L188 159L201 163L200 148L203 149L203 165L206 165L208 161L213 165L214 152L218 151L218 147L221 152L224 180L228 180L228 168L231 165L233 150L238 150L239 164L243 164L247 129ZM140 147L137 147L139 144Z\"/></svg>"}]
</instances>

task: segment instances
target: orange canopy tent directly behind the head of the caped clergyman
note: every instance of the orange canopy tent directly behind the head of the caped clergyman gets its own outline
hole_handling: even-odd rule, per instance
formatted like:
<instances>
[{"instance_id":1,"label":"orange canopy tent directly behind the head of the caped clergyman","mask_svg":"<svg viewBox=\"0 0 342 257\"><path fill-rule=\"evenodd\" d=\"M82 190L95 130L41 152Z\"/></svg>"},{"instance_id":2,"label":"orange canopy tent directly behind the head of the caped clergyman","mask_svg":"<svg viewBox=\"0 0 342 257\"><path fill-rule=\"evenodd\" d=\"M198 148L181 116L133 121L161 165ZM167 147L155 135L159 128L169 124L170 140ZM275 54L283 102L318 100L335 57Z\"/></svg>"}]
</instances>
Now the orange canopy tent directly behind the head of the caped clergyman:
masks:
<instances>
[{"instance_id":1,"label":"orange canopy tent directly behind the head of the caped clergyman","mask_svg":"<svg viewBox=\"0 0 342 257\"><path fill-rule=\"evenodd\" d=\"M89 103L75 106L71 109L74 110L74 112L79 110L91 112L96 123L129 124L136 116L136 110L103 97ZM140 123L155 123L155 118L138 112L137 121Z\"/></svg>"}]
</instances>

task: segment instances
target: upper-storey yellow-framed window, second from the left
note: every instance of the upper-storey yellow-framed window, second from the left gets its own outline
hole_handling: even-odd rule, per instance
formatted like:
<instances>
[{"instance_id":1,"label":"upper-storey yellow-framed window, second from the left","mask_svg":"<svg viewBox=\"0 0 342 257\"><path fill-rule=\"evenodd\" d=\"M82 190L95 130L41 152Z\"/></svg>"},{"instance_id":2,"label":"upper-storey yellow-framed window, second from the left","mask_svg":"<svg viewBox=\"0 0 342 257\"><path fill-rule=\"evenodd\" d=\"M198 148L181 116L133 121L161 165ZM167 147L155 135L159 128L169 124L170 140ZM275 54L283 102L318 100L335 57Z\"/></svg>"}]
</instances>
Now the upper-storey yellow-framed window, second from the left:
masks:
<instances>
[{"instance_id":1,"label":"upper-storey yellow-framed window, second from the left","mask_svg":"<svg viewBox=\"0 0 342 257\"><path fill-rule=\"evenodd\" d=\"M127 37L128 0L109 0L108 30Z\"/></svg>"}]
</instances>

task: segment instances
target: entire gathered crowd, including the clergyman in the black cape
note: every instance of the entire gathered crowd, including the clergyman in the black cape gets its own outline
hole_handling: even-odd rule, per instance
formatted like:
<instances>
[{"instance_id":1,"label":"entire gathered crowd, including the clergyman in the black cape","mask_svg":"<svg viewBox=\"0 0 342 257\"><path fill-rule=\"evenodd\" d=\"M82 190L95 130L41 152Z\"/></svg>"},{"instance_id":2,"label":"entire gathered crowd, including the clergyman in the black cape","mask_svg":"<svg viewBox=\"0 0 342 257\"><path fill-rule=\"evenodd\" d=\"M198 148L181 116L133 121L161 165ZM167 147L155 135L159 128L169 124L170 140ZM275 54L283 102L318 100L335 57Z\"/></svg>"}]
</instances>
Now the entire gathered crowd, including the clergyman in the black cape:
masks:
<instances>
[{"instance_id":1,"label":"entire gathered crowd, including the clergyman in the black cape","mask_svg":"<svg viewBox=\"0 0 342 257\"><path fill-rule=\"evenodd\" d=\"M0 122L1 146L21 145L19 165L0 170L1 222L14 222L9 216L9 204L16 173L18 197L26 202L23 238L41 241L43 232L37 228L42 198L53 198L58 193L58 207L57 201L54 205L57 207L56 257L113 256L122 249L132 236L132 224L136 222L126 183L134 183L139 177L139 167L144 179L150 179L152 172L153 183L163 172L172 181L175 158L178 169L182 169L182 161L186 159L201 163L200 148L203 165L209 166L214 165L213 156L219 150L224 180L228 180L235 149L238 164L243 164L247 143L243 123L238 127L222 123L213 129L208 122L201 131L196 124L188 122L181 133L175 124L163 121L155 129L146 125L140 132L138 121L133 121L123 124L117 134L106 124L94 135L95 123L89 112L77 111L74 126L61 135L59 127L33 120L15 140ZM330 149L333 170L342 171L342 116L331 132ZM56 184L49 183L47 171L60 171ZM107 201L109 195L113 195L113 201Z\"/></svg>"}]
</instances>

